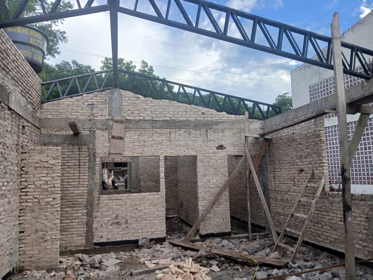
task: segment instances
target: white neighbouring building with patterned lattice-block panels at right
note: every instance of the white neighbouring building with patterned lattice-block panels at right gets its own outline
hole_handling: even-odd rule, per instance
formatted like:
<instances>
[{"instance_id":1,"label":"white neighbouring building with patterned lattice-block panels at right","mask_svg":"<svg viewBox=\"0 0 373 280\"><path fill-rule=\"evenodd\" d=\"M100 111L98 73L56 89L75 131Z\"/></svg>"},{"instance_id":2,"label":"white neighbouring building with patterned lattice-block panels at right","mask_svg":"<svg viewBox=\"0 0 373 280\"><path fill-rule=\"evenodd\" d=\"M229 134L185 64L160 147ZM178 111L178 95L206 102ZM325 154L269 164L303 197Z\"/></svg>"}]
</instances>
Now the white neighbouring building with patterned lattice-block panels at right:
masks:
<instances>
[{"instance_id":1,"label":"white neighbouring building with patterned lattice-block panels at right","mask_svg":"<svg viewBox=\"0 0 373 280\"><path fill-rule=\"evenodd\" d=\"M345 31L342 34L342 41L373 49L372 29L373 11ZM332 70L310 64L302 64L292 70L293 107L296 108L335 93L333 76ZM357 85L362 81L363 79L344 75L345 88ZM350 139L358 117L359 114L347 115ZM340 156L337 117L335 114L327 114L325 116L325 140L330 183L333 187L338 187L341 183L338 175ZM352 162L351 191L354 193L373 193L373 115L368 121Z\"/></svg>"}]
</instances>

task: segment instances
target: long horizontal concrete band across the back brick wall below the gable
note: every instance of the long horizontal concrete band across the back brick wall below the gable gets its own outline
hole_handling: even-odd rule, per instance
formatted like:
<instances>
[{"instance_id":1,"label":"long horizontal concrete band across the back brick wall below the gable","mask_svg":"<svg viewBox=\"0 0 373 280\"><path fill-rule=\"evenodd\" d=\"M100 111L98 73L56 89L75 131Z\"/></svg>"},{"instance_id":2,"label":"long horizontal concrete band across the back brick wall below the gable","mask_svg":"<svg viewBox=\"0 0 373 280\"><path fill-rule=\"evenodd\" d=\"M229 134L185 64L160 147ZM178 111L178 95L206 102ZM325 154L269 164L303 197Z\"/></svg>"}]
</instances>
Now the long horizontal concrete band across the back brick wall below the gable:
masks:
<instances>
[{"instance_id":1,"label":"long horizontal concrete band across the back brick wall below the gable","mask_svg":"<svg viewBox=\"0 0 373 280\"><path fill-rule=\"evenodd\" d=\"M76 122L81 129L111 129L112 119L41 119L42 128L68 128L68 122ZM249 129L260 130L263 121L251 121ZM244 129L244 120L125 120L125 129Z\"/></svg>"}]
</instances>

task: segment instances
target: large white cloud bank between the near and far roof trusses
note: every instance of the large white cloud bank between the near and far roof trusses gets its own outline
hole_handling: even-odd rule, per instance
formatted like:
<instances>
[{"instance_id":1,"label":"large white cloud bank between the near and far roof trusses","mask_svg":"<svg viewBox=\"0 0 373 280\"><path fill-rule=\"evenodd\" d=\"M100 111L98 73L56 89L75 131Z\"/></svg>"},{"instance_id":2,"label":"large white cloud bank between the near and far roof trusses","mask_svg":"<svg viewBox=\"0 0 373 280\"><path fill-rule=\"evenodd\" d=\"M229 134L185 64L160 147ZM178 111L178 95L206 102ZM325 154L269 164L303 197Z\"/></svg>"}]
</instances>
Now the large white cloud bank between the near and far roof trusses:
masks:
<instances>
[{"instance_id":1,"label":"large white cloud bank between the near and far roof trusses","mask_svg":"<svg viewBox=\"0 0 373 280\"><path fill-rule=\"evenodd\" d=\"M254 7L249 3L257 2L230 1L245 2L247 10ZM242 10L242 6L237 8ZM220 22L220 18L217 20ZM69 42L61 48L111 57L109 13L66 18L61 29L69 36ZM119 56L126 60L224 75L154 67L156 75L183 79L178 80L181 83L268 103L278 94L291 91L290 70L296 62L289 59L122 14L118 40ZM62 51L57 59L93 65L103 60L68 51Z\"/></svg>"}]
</instances>

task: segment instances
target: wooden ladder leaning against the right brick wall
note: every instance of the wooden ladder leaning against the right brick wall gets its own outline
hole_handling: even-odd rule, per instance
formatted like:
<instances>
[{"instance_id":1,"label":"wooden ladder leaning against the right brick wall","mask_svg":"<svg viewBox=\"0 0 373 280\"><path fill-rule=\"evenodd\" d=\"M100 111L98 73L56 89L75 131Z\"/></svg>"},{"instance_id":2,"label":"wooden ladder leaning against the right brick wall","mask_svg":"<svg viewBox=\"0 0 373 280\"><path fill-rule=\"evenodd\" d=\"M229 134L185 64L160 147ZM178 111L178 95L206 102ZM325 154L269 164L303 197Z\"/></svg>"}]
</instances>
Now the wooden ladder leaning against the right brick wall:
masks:
<instances>
[{"instance_id":1,"label":"wooden ladder leaning against the right brick wall","mask_svg":"<svg viewBox=\"0 0 373 280\"><path fill-rule=\"evenodd\" d=\"M312 213L315 210L316 202L318 201L318 199L320 197L320 194L321 194L321 191L323 190L323 187L324 187L324 184L325 184L325 175L321 178L321 181L320 181L319 184L311 184L311 180L313 178L313 175L314 175L313 170L311 170L311 174L308 177L308 179L306 181L306 184L304 185L302 191L300 192L299 197L296 200L295 205L293 207L293 210L290 213L289 218L286 220L285 226L284 226L284 228L283 228L283 230L282 230L282 232L281 232L281 234L279 236L279 239L277 240L276 245L275 245L275 247L274 247L274 249L272 251L272 252L275 252L278 249L278 247L281 247L283 249L287 249L287 250L293 252L293 256L292 256L292 259L291 259L292 263L294 263L294 260L295 260L295 257L296 257L296 253L298 252L298 250L299 250L299 248L300 248L300 246L302 244L303 237L304 237L304 234L306 233L307 226L308 226L308 224L309 224L309 222L311 220ZM314 197L313 200L304 197L305 193L306 193L306 191L308 189L308 187L317 187L317 191L316 191L316 194L315 194L315 197ZM300 202L311 203L311 209L310 209L310 212L309 212L308 215L304 215L304 214L300 214L300 213L296 213L295 212L295 210L299 206ZM301 232L297 231L297 230L294 230L294 229L291 229L291 228L288 227L288 225L290 223L290 220L293 217L304 218L306 220L305 223L304 223L304 225L303 225L303 229L302 229ZM296 235L299 236L295 248L290 247L288 245L285 245L285 244L281 243L281 240L284 237L285 232L294 233L294 234L296 234Z\"/></svg>"}]
</instances>

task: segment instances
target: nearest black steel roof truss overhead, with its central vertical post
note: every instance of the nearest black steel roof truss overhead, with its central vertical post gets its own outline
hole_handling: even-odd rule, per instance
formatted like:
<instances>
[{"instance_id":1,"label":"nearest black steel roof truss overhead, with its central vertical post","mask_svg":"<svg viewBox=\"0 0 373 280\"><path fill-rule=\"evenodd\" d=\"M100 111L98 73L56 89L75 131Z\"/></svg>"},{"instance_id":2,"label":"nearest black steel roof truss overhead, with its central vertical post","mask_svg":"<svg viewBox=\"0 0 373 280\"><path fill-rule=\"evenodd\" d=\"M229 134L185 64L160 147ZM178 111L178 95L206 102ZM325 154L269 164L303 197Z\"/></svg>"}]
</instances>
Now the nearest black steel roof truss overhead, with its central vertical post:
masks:
<instances>
[{"instance_id":1,"label":"nearest black steel roof truss overhead, with its central vertical post","mask_svg":"<svg viewBox=\"0 0 373 280\"><path fill-rule=\"evenodd\" d=\"M82 0L76 0L78 9L71 11L59 11L61 0L55 0L47 11L43 0L38 0L43 7L41 14L24 17L22 14L29 1L31 0L20 0L15 13L9 15L6 1L0 0L4 15L0 28L110 11L113 61L117 59L118 54L117 13L120 12L333 69L330 37L204 0L166 0L167 7L163 7L155 0L134 0L131 6L129 0L123 0L121 3L119 0L108 0L107 4L96 6L93 6L93 0L86 0L84 6L81 4ZM372 77L372 71L368 66L373 60L372 50L342 42L342 57L345 74L365 79ZM359 66L362 68L361 72L356 71ZM114 63L115 73L116 68Z\"/></svg>"}]
</instances>

